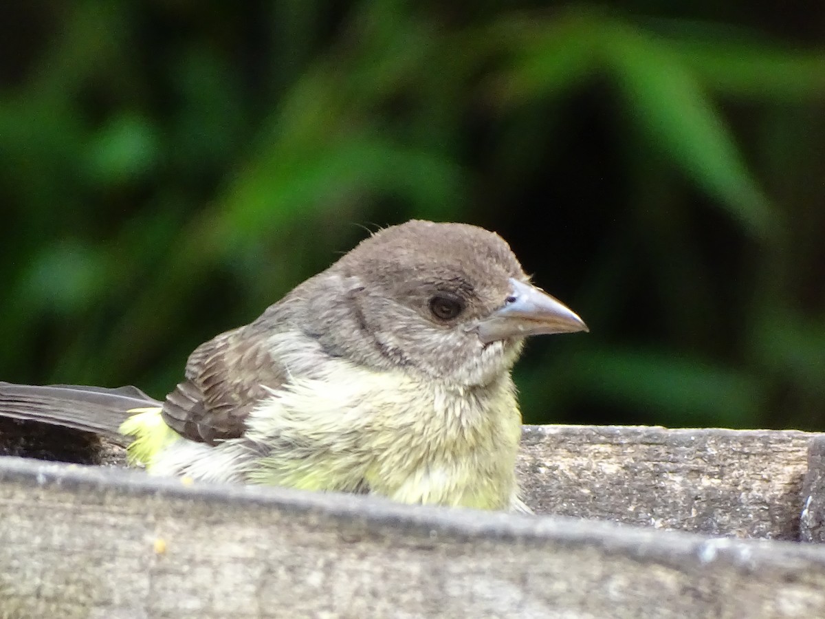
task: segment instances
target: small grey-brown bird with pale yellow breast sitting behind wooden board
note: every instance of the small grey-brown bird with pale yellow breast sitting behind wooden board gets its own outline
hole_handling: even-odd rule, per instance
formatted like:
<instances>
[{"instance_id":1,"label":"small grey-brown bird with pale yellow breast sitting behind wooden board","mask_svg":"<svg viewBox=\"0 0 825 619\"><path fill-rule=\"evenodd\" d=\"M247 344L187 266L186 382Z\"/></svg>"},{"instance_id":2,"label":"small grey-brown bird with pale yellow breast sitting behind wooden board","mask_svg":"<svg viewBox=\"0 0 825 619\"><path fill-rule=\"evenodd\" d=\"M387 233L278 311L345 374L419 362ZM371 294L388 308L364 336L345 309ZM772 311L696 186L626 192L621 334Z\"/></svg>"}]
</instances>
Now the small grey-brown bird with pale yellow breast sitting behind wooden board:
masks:
<instances>
[{"instance_id":1,"label":"small grey-brown bird with pale yellow breast sitting behind wooden board","mask_svg":"<svg viewBox=\"0 0 825 619\"><path fill-rule=\"evenodd\" d=\"M529 512L512 366L587 330L498 234L410 220L201 344L163 401L0 383L0 415L125 435L152 475Z\"/></svg>"}]
</instances>

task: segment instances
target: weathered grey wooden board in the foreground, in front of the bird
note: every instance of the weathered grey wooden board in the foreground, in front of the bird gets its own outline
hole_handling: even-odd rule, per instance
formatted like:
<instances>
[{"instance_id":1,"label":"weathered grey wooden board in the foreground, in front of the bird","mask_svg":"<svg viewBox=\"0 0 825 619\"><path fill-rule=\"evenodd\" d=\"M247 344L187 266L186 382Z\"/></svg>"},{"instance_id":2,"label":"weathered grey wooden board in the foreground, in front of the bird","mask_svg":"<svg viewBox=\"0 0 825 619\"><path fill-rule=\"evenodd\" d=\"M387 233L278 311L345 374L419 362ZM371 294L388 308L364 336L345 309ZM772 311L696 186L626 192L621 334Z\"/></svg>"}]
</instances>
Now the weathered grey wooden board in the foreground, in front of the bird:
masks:
<instances>
[{"instance_id":1,"label":"weathered grey wooden board in the foreground, in front of the bird","mask_svg":"<svg viewBox=\"0 0 825 619\"><path fill-rule=\"evenodd\" d=\"M0 617L825 617L825 547L0 459Z\"/></svg>"}]
</instances>

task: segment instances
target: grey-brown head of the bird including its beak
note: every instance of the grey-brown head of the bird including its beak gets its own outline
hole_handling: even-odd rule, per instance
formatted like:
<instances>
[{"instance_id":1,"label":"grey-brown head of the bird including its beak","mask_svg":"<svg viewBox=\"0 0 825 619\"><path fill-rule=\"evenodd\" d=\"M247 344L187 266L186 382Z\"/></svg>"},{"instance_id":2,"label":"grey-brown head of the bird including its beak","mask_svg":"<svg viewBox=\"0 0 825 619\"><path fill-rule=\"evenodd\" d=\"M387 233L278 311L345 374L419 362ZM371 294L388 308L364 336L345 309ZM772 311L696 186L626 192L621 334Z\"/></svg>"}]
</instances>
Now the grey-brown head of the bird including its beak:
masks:
<instances>
[{"instance_id":1,"label":"grey-brown head of the bird including its beak","mask_svg":"<svg viewBox=\"0 0 825 619\"><path fill-rule=\"evenodd\" d=\"M509 371L529 335L587 330L530 284L504 239L468 224L380 230L293 294L332 354L455 386Z\"/></svg>"}]
</instances>

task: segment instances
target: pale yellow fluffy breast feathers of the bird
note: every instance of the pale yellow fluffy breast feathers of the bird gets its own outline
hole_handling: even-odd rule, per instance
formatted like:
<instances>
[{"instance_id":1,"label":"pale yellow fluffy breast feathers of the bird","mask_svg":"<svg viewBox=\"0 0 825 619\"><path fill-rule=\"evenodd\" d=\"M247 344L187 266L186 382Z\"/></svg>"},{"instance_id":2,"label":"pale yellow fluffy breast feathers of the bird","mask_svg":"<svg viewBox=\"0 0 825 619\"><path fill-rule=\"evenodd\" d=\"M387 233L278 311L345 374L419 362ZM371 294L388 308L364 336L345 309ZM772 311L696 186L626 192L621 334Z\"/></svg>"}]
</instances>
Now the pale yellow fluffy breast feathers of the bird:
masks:
<instances>
[{"instance_id":1,"label":"pale yellow fluffy breast feathers of the bird","mask_svg":"<svg viewBox=\"0 0 825 619\"><path fill-rule=\"evenodd\" d=\"M515 492L521 416L509 376L470 389L328 361L273 391L247 424L257 483L489 509Z\"/></svg>"}]
</instances>

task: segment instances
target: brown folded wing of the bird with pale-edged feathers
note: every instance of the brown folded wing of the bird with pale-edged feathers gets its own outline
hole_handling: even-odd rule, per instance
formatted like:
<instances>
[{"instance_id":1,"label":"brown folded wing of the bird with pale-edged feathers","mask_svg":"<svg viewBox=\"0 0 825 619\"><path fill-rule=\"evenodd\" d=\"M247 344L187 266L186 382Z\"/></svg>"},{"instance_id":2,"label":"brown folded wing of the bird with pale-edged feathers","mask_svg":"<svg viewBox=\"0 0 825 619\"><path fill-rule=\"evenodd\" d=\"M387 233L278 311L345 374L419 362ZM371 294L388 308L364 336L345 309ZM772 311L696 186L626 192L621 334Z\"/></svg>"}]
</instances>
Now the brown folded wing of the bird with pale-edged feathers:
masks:
<instances>
[{"instance_id":1,"label":"brown folded wing of the bird with pale-edged feathers","mask_svg":"<svg viewBox=\"0 0 825 619\"><path fill-rule=\"evenodd\" d=\"M164 421L181 436L213 445L242 436L255 404L287 380L263 334L250 331L233 329L192 352L186 380L163 404Z\"/></svg>"}]
</instances>

